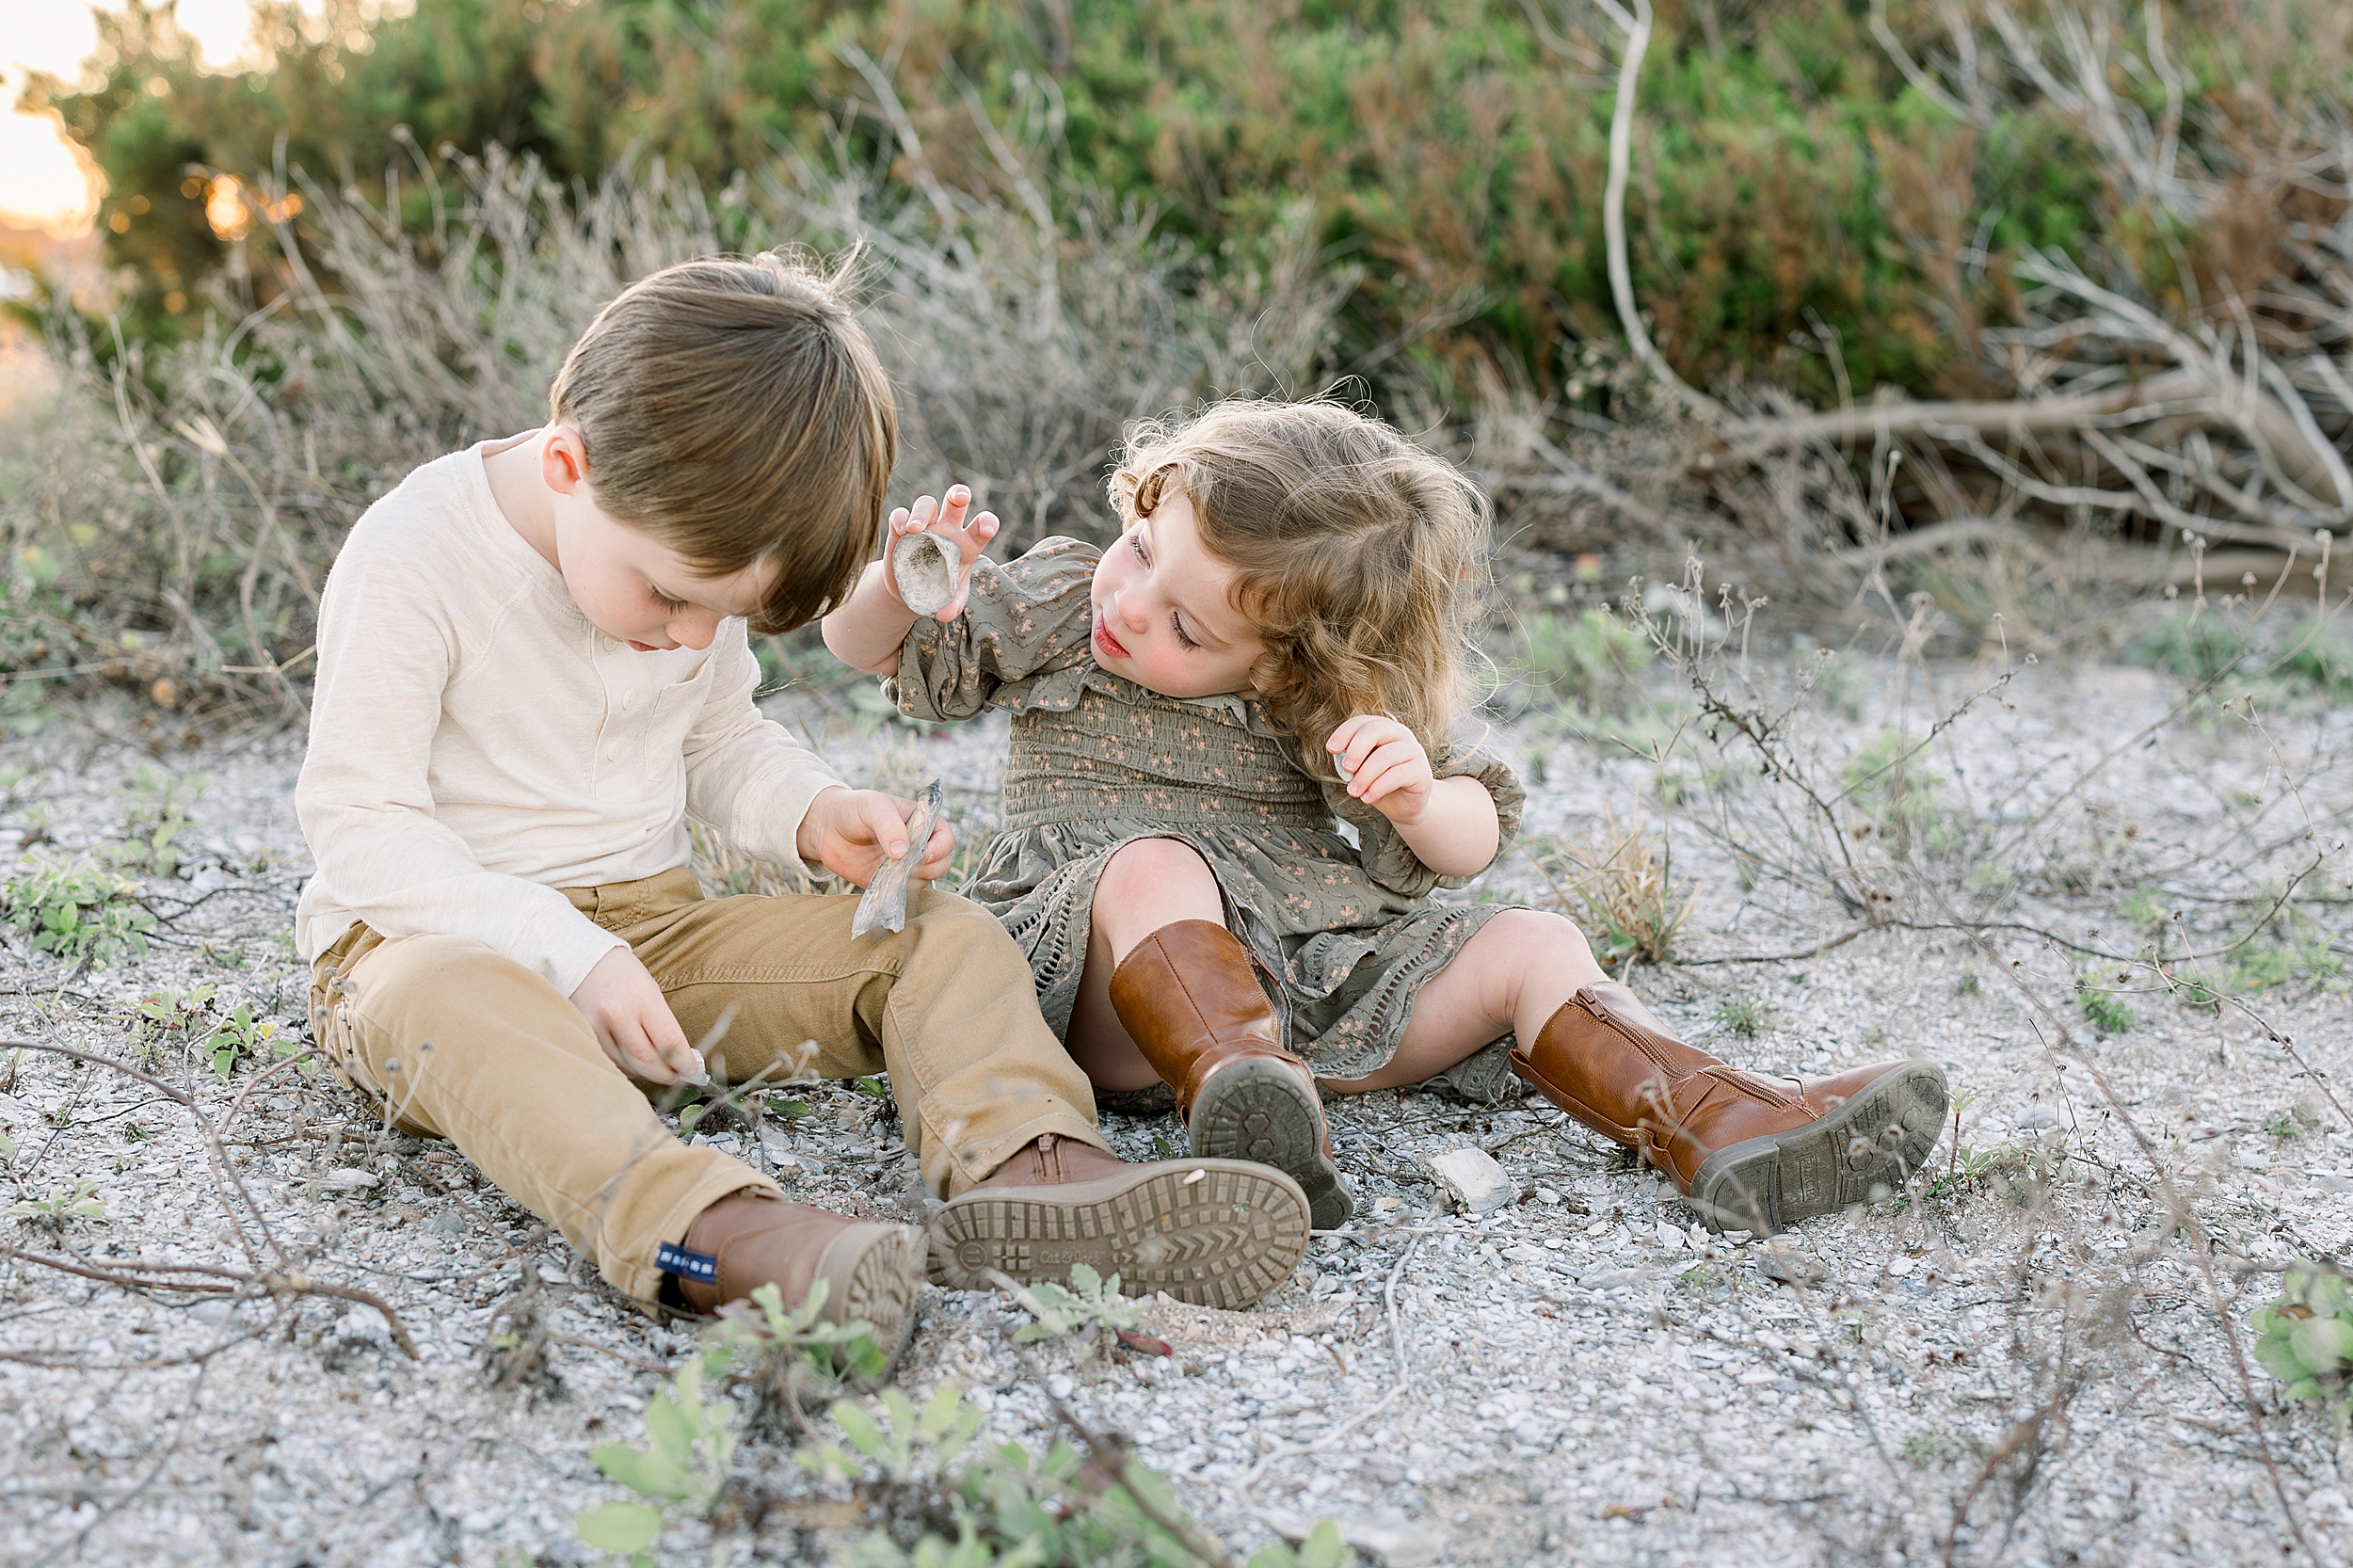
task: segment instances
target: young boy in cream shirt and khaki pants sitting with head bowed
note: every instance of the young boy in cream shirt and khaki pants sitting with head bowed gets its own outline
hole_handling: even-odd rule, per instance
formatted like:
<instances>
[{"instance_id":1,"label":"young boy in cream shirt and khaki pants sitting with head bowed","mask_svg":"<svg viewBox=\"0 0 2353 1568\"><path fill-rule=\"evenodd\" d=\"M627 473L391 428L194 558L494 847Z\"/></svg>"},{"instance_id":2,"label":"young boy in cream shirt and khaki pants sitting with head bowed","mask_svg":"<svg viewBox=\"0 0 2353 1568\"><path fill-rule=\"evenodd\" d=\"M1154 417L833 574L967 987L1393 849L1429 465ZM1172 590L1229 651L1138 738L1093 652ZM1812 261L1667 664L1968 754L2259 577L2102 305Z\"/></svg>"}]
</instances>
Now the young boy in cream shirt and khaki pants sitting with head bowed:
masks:
<instances>
[{"instance_id":1,"label":"young boy in cream shirt and khaki pants sitting with head bowed","mask_svg":"<svg viewBox=\"0 0 2353 1568\"><path fill-rule=\"evenodd\" d=\"M1299 1187L1111 1156L986 911L918 890L904 932L852 942L852 897L704 899L687 871L687 812L852 883L906 850L906 800L847 789L753 709L746 624L847 598L896 457L838 278L779 257L645 278L572 348L551 412L376 501L320 605L296 923L341 1071L649 1304L767 1281L800 1302L821 1278L828 1318L885 1349L913 1330L920 1231L786 1203L668 1135L640 1083L706 1067L889 1071L948 1201L941 1283L1089 1262L1219 1307L1282 1283ZM948 850L939 829L918 876Z\"/></svg>"}]
</instances>

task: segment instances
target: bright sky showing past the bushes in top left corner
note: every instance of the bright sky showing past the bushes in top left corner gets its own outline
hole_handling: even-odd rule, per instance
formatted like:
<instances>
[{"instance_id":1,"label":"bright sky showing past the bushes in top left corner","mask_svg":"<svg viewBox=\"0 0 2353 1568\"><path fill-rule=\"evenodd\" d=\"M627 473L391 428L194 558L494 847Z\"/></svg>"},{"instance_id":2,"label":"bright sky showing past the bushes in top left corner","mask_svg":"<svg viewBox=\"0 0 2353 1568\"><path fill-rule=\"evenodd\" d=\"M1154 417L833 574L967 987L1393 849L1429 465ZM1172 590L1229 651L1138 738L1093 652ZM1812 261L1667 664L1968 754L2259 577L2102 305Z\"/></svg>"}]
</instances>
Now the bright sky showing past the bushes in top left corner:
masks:
<instances>
[{"instance_id":1,"label":"bright sky showing past the bushes in top left corner","mask_svg":"<svg viewBox=\"0 0 2353 1568\"><path fill-rule=\"evenodd\" d=\"M120 2L101 9L120 9ZM249 0L179 0L179 26L195 38L209 68L240 64L252 24ZM99 45L89 5L80 0L0 0L0 221L82 233L96 212L92 174L75 160L56 115L16 113L28 71L73 80Z\"/></svg>"}]
</instances>

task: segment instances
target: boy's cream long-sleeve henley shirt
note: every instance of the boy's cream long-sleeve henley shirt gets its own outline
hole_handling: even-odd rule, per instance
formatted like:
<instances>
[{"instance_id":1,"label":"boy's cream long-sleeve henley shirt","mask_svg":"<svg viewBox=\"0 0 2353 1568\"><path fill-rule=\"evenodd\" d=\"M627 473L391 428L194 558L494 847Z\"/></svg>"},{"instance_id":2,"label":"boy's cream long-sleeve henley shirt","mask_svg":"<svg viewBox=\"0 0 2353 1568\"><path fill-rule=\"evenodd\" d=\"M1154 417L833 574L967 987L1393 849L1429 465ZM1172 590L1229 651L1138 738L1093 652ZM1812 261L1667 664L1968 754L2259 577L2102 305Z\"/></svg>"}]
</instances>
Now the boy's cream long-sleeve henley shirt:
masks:
<instances>
[{"instance_id":1,"label":"boy's cream long-sleeve henley shirt","mask_svg":"<svg viewBox=\"0 0 2353 1568\"><path fill-rule=\"evenodd\" d=\"M311 751L294 808L318 871L296 946L353 921L475 937L569 996L621 939L555 892L687 864L687 812L800 866L840 779L760 718L741 619L711 647L633 652L508 525L482 443L367 509L320 600Z\"/></svg>"}]
</instances>

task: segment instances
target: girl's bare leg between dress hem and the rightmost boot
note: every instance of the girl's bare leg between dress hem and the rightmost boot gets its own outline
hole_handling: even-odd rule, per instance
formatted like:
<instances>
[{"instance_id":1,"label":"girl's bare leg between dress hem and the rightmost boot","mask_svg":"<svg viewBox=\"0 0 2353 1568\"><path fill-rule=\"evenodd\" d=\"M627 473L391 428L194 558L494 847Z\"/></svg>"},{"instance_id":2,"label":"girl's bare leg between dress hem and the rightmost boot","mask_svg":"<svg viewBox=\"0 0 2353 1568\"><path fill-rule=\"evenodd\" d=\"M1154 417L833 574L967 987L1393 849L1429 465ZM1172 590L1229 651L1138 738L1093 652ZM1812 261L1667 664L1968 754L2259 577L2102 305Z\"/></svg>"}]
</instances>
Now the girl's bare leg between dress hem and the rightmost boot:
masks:
<instances>
[{"instance_id":1,"label":"girl's bare leg between dress hem and the rightmost boot","mask_svg":"<svg viewBox=\"0 0 2353 1568\"><path fill-rule=\"evenodd\" d=\"M1414 1015L1388 1067L1351 1083L1325 1078L1325 1085L1362 1095L1421 1083L1506 1031L1534 1041L1579 986L1602 979L1609 977L1577 925L1541 909L1504 909L1414 994Z\"/></svg>"}]
</instances>

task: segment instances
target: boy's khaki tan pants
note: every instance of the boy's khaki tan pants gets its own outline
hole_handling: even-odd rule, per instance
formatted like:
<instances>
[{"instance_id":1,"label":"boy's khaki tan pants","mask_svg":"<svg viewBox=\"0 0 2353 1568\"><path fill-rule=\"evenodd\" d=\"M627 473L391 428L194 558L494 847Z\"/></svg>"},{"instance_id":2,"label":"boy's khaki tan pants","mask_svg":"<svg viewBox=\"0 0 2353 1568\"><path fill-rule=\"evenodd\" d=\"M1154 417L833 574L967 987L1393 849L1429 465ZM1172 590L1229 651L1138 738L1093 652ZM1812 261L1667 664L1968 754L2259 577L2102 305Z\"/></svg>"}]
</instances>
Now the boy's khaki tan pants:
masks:
<instances>
[{"instance_id":1,"label":"boy's khaki tan pants","mask_svg":"<svg viewBox=\"0 0 2353 1568\"><path fill-rule=\"evenodd\" d=\"M854 897L706 899L692 871L567 888L626 939L720 1083L889 1071L925 1184L953 1198L1042 1132L1104 1149L1094 1092L1038 1015L1028 963L988 911L908 895L899 935L852 942ZM562 1229L616 1288L654 1300L654 1248L751 1165L687 1147L569 998L471 937L353 925L311 970L311 1022L405 1132L447 1137Z\"/></svg>"}]
</instances>

